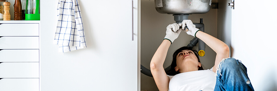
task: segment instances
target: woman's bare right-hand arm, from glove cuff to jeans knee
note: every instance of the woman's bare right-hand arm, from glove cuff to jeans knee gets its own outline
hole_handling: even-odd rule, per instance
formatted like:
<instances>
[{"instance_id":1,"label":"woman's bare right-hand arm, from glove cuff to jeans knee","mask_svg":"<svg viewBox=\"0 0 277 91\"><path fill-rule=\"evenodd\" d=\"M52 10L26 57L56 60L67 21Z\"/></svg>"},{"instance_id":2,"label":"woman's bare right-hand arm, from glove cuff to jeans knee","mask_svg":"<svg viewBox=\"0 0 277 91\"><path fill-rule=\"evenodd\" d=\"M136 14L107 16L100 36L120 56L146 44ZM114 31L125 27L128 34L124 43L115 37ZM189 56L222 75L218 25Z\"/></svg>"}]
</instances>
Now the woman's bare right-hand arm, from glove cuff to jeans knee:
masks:
<instances>
[{"instance_id":1,"label":"woman's bare right-hand arm, from glove cuff to jeans knee","mask_svg":"<svg viewBox=\"0 0 277 91\"><path fill-rule=\"evenodd\" d=\"M196 32L195 35L197 38L205 42L209 47L211 47L217 53L217 56L214 62L214 67L213 67L213 71L216 72L217 65L219 64L219 62L222 59L229 57L228 45L222 42L221 40L202 31Z\"/></svg>"}]
</instances>

